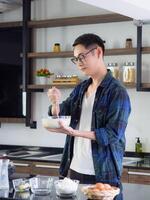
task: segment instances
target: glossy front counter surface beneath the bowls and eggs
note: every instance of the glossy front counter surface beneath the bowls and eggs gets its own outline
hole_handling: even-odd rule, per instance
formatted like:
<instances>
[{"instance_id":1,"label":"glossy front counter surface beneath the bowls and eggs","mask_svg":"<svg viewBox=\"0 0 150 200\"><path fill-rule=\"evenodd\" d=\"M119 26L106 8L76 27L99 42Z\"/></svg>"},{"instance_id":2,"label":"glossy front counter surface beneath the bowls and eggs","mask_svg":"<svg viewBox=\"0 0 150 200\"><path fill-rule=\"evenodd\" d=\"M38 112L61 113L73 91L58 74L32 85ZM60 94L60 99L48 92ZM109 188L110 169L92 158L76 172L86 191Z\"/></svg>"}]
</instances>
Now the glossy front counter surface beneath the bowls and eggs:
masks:
<instances>
[{"instance_id":1,"label":"glossy front counter surface beneath the bowls and eggs","mask_svg":"<svg viewBox=\"0 0 150 200\"><path fill-rule=\"evenodd\" d=\"M81 187L83 185L79 186L77 197L72 198L74 200L86 200L86 197L81 192ZM56 196L55 189L53 188L52 193L48 196L35 196L31 194L30 192L24 193L14 193L13 191L10 192L8 195L5 193L5 197L0 197L1 200L58 200L61 199ZM25 197L26 195L26 197ZM71 199L71 198L70 198ZM150 199L150 186L148 185L141 185L141 184L129 184L124 183L123 184L123 198L122 200L149 200Z\"/></svg>"}]
</instances>

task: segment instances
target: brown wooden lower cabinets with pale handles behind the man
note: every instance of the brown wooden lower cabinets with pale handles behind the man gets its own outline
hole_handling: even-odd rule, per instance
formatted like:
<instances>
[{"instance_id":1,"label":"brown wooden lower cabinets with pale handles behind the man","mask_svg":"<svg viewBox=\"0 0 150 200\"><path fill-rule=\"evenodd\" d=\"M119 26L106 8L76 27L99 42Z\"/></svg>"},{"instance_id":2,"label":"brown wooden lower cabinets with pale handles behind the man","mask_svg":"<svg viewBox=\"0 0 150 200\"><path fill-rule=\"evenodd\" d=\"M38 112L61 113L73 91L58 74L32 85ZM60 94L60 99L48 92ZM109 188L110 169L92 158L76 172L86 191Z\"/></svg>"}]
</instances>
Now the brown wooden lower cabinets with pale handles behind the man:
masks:
<instances>
[{"instance_id":1,"label":"brown wooden lower cabinets with pale handles behind the man","mask_svg":"<svg viewBox=\"0 0 150 200\"><path fill-rule=\"evenodd\" d=\"M16 174L59 176L60 162L11 160L16 167ZM150 169L124 167L121 180L123 183L150 185Z\"/></svg>"}]
</instances>

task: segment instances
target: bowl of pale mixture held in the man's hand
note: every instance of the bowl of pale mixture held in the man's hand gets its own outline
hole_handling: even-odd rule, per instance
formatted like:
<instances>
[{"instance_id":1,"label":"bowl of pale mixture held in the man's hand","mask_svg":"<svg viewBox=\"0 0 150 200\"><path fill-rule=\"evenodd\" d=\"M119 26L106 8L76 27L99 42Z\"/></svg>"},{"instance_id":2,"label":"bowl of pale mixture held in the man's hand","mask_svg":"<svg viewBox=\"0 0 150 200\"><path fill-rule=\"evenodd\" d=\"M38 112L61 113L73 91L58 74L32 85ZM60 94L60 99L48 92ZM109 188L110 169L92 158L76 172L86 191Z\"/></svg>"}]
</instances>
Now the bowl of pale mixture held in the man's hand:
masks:
<instances>
[{"instance_id":1,"label":"bowl of pale mixture held in the man's hand","mask_svg":"<svg viewBox=\"0 0 150 200\"><path fill-rule=\"evenodd\" d=\"M66 126L70 125L70 116L50 116L42 119L44 128L59 128L59 121L62 121Z\"/></svg>"}]
</instances>

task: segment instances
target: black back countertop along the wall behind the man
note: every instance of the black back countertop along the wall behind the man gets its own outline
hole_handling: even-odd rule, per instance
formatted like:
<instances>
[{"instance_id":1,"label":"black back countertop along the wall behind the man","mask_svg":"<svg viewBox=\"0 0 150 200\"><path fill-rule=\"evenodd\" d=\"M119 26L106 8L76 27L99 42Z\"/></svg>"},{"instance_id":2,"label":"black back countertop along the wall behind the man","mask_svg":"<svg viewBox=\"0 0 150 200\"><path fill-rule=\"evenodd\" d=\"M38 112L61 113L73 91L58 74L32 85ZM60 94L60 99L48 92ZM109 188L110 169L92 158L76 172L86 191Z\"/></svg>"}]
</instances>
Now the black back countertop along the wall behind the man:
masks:
<instances>
[{"instance_id":1,"label":"black back countertop along the wall behind the man","mask_svg":"<svg viewBox=\"0 0 150 200\"><path fill-rule=\"evenodd\" d=\"M60 163L62 152L63 152L63 148L55 148L55 147L48 148L48 147L0 145L0 154L2 155L6 153L7 157L11 160ZM150 170L150 154L149 153L135 154L134 152L126 152L125 156L141 157L140 161L123 163L123 166L125 168L130 167L130 168L135 168L135 169Z\"/></svg>"}]
</instances>

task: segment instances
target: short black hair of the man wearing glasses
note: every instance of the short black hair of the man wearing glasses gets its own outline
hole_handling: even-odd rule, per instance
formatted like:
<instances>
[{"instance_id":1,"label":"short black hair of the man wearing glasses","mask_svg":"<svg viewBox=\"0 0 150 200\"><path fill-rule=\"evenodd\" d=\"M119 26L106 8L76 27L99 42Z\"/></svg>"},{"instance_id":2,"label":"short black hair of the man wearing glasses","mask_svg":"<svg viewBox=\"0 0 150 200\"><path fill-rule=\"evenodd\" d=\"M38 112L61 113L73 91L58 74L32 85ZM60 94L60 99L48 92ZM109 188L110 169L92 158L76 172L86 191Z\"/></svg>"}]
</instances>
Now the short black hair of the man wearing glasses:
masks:
<instances>
[{"instance_id":1,"label":"short black hair of the man wearing glasses","mask_svg":"<svg viewBox=\"0 0 150 200\"><path fill-rule=\"evenodd\" d=\"M105 46L104 46L105 41L102 40L98 35L93 34L93 33L86 33L83 35L80 35L73 43L73 47L75 47L78 44L83 45L85 48L88 48L89 46L92 46L94 44L100 46L103 51L103 55L105 52Z\"/></svg>"}]
</instances>

